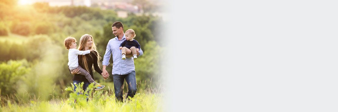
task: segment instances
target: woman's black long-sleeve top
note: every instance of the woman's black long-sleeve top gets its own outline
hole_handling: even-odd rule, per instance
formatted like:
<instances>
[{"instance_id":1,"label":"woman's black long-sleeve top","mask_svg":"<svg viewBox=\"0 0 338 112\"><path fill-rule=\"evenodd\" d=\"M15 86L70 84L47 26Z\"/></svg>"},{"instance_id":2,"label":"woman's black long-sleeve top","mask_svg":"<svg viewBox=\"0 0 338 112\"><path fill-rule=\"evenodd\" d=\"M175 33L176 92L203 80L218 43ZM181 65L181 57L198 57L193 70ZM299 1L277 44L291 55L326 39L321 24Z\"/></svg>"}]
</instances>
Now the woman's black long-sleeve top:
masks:
<instances>
[{"instance_id":1,"label":"woman's black long-sleeve top","mask_svg":"<svg viewBox=\"0 0 338 112\"><path fill-rule=\"evenodd\" d=\"M99 73L99 74L102 73L102 70L100 69L100 67L99 67L99 65L97 63L97 52L96 51L91 51L89 54L86 54L85 56L87 58L87 66L89 68L89 73L92 76L92 78L94 79L94 77L93 77L93 70L92 70L93 66L94 66L94 70L97 73ZM83 65L83 62L82 62L83 58L81 57L81 55L78 55L78 59L79 59L79 66L81 68L83 68L84 70L86 70L84 68L84 65ZM75 74L72 80L89 82L84 75L80 75L80 74Z\"/></svg>"}]
</instances>

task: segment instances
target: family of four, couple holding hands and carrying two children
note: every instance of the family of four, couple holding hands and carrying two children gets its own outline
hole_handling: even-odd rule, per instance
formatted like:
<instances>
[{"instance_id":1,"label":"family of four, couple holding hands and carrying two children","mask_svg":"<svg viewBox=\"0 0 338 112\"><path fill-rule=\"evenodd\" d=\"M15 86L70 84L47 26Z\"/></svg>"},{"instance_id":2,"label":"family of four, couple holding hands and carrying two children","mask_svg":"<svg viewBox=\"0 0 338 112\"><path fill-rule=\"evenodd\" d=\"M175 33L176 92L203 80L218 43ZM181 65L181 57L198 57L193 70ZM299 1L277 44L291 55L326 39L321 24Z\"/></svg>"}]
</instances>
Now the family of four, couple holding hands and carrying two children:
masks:
<instances>
[{"instance_id":1,"label":"family of four, couple holding hands and carrying two children","mask_svg":"<svg viewBox=\"0 0 338 112\"><path fill-rule=\"evenodd\" d=\"M95 90L104 88L104 85L94 81L93 70L101 74L104 79L108 79L109 73L106 71L106 67L110 64L109 60L113 55L113 81L115 97L117 101L123 102L123 82L126 80L128 85L128 94L126 98L132 98L136 94L136 72L134 60L137 57L143 55L141 45L133 39L136 37L135 31L128 29L123 32L123 24L121 22L115 22L112 25L113 34L116 36L110 39L105 54L103 56L102 70L98 66L100 61L100 55L97 52L97 48L94 42L94 38L91 35L84 34L80 38L79 47L76 49L76 39L73 37L67 37L64 41L68 52L68 67L71 73L74 75L73 84L79 84L84 82L83 90L86 90L88 85L94 83ZM74 91L76 86L74 87Z\"/></svg>"}]
</instances>

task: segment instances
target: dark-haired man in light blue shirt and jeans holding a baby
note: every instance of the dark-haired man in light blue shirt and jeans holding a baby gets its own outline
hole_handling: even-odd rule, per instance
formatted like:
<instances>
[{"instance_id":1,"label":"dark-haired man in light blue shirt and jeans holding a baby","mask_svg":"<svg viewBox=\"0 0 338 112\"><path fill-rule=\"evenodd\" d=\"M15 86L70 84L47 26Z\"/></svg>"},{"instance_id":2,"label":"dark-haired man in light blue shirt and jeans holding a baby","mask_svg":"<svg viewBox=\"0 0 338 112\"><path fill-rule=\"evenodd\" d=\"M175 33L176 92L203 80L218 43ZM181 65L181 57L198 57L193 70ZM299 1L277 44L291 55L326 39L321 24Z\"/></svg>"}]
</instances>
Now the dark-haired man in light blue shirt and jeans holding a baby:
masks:
<instances>
[{"instance_id":1,"label":"dark-haired man in light blue shirt and jeans holding a baby","mask_svg":"<svg viewBox=\"0 0 338 112\"><path fill-rule=\"evenodd\" d=\"M115 97L118 101L123 101L123 82L126 80L128 85L128 94L127 97L134 97L136 94L136 73L135 73L135 65L134 59L130 58L132 55L126 55L126 59L122 60L122 52L119 49L120 44L126 40L126 37L123 33L123 24L121 22L115 22L112 25L113 34L116 36L113 39L110 39L105 54L103 56L102 62L102 75L103 78L107 79L109 74L106 71L106 67L109 64L109 59L111 54L113 55L113 81L114 81L114 89L115 89ZM131 51L127 51L126 54ZM140 49L137 52L137 55L143 55L143 51Z\"/></svg>"}]
</instances>

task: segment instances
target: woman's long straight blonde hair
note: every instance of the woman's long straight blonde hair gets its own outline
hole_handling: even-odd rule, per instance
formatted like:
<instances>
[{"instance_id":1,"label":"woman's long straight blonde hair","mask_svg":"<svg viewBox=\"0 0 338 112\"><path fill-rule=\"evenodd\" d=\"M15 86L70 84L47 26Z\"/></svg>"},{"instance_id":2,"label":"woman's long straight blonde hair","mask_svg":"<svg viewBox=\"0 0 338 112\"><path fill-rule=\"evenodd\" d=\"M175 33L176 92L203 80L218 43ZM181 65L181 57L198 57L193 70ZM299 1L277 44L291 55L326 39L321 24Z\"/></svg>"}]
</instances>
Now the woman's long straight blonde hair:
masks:
<instances>
[{"instance_id":1,"label":"woman's long straight blonde hair","mask_svg":"<svg viewBox=\"0 0 338 112\"><path fill-rule=\"evenodd\" d=\"M100 57L99 52L97 52L97 50L96 50L97 47L96 47L96 44L95 44L95 42L94 42L94 39L93 39L93 37L92 37L91 35L89 35L89 34L84 34L84 35L81 36L81 38L80 38L80 45L79 45L78 49L84 51L84 47L86 46L87 41L88 41L89 38L91 38L92 41L93 41L92 46L89 47L89 49L93 48L94 51L95 51L95 53L97 53L97 64L99 65L99 61L100 61L101 57ZM89 53L89 55L90 55L90 57L92 57L92 55L91 55L90 53ZM87 58L86 58L86 56L85 56L85 55L80 55L80 58L82 58L82 62L83 62L84 69L86 69L86 70L89 72L89 68L88 68L88 63L87 63ZM93 58L93 57L92 57L92 58ZM93 66L92 66L92 69L93 69Z\"/></svg>"}]
</instances>

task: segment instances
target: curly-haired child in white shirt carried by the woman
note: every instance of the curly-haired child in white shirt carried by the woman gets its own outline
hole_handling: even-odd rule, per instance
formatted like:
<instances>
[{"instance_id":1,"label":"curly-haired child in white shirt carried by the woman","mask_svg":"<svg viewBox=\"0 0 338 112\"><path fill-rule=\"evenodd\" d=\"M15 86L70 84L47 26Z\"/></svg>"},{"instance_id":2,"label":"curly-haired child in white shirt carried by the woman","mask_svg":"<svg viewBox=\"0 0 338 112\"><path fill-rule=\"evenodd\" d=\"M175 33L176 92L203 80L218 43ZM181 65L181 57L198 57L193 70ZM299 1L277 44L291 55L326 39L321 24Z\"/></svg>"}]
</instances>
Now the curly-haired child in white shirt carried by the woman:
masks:
<instances>
[{"instance_id":1,"label":"curly-haired child in white shirt carried by the woman","mask_svg":"<svg viewBox=\"0 0 338 112\"><path fill-rule=\"evenodd\" d=\"M97 84L98 87L95 88L95 90L100 90L104 87L104 85L100 85L98 83L96 83L94 81L94 79L92 78L92 76L89 74L89 72L87 72L86 70L84 70L83 68L81 68L79 66L78 63L78 57L77 55L85 55L85 54L89 54L91 51L93 51L93 48L90 50L86 50L86 51L81 51L76 49L76 39L73 37L67 37L65 39L65 47L66 49L69 49L68 52L68 67L70 69L70 71L73 71L74 69L79 68L80 69L80 74L86 76L86 79L90 82L90 83L94 83L95 85Z\"/></svg>"}]
</instances>

